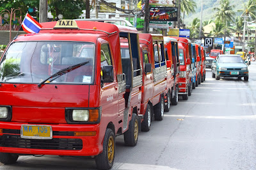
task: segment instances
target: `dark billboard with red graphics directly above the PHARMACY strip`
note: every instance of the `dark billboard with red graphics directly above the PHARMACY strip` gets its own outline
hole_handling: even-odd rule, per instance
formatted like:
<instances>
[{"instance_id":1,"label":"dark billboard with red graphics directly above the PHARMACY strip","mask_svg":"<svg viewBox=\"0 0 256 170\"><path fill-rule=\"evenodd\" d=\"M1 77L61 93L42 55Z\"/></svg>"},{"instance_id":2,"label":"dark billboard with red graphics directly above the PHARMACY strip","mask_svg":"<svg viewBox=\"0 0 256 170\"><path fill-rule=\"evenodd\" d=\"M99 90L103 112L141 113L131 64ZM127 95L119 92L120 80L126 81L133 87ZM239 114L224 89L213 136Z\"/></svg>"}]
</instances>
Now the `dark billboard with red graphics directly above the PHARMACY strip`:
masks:
<instances>
[{"instance_id":1,"label":"dark billboard with red graphics directly above the PHARMACY strip","mask_svg":"<svg viewBox=\"0 0 256 170\"><path fill-rule=\"evenodd\" d=\"M150 20L177 21L178 8L151 7L149 10Z\"/></svg>"}]
</instances>

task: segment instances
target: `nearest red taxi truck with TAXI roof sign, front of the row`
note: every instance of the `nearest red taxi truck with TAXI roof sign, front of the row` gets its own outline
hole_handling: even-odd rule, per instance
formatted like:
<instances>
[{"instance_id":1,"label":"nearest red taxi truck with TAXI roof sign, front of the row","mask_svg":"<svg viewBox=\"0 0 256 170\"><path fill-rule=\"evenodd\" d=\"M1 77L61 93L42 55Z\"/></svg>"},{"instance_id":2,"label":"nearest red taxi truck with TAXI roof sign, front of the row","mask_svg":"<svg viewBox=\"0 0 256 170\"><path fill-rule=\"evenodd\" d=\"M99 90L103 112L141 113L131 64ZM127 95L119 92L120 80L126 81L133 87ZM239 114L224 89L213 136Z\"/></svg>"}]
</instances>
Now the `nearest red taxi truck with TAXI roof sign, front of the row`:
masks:
<instances>
[{"instance_id":1,"label":"nearest red taxi truck with TAXI roof sign, front of the row","mask_svg":"<svg viewBox=\"0 0 256 170\"><path fill-rule=\"evenodd\" d=\"M97 168L110 169L116 135L129 146L138 141L145 75L138 31L81 20L41 25L38 34L15 38L1 57L0 161L90 156ZM120 38L129 43L125 58Z\"/></svg>"}]
</instances>

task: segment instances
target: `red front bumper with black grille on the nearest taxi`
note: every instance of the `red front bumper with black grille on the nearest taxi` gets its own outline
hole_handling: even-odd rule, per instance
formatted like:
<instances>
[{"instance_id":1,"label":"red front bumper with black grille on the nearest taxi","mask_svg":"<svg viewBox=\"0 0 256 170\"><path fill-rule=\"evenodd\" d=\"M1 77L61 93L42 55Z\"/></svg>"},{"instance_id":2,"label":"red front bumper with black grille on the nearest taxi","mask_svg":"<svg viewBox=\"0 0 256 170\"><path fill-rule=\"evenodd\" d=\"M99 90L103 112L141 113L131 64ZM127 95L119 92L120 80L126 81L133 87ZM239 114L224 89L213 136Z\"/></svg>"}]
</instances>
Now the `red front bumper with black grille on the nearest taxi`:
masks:
<instances>
[{"instance_id":1,"label":"red front bumper with black grille on the nearest taxi","mask_svg":"<svg viewBox=\"0 0 256 170\"><path fill-rule=\"evenodd\" d=\"M27 123L1 122L0 152L28 155L94 156L102 151L100 126L51 125L52 139L20 138L20 127ZM35 123L36 124L36 123ZM74 132L96 132L95 136L75 136Z\"/></svg>"}]
</instances>

